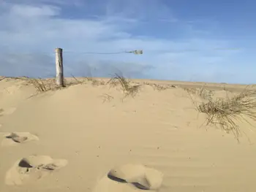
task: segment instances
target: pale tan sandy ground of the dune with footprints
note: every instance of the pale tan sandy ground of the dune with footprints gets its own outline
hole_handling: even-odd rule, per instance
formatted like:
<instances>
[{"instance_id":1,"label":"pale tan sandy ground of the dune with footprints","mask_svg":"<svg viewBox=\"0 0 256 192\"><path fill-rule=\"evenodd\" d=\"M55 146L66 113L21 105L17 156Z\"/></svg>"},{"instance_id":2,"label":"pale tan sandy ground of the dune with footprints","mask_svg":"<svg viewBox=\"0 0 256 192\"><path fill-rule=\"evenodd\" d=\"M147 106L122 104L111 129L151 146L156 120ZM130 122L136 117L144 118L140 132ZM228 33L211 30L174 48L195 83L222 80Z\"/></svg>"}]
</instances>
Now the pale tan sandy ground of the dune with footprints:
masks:
<instances>
[{"instance_id":1,"label":"pale tan sandy ground of the dune with footprints","mask_svg":"<svg viewBox=\"0 0 256 192\"><path fill-rule=\"evenodd\" d=\"M91 82L34 96L24 80L1 80L0 192L143 191L136 182L159 192L255 192L254 128L240 123L250 141L238 144L203 124L184 90L202 83L148 82L176 86L143 85L121 100L118 88ZM215 96L244 88L203 85Z\"/></svg>"}]
</instances>

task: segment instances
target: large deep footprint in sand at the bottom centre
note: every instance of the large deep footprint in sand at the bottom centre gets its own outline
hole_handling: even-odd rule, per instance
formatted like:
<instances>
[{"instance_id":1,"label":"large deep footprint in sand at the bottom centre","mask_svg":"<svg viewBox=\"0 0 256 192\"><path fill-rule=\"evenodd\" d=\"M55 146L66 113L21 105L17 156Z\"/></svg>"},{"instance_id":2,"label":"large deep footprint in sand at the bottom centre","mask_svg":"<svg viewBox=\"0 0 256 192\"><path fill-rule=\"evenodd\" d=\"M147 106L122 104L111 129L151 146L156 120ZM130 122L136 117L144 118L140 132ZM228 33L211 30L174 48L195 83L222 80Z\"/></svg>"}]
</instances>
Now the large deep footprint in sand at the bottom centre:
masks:
<instances>
[{"instance_id":1,"label":"large deep footprint in sand at the bottom centre","mask_svg":"<svg viewBox=\"0 0 256 192\"><path fill-rule=\"evenodd\" d=\"M94 192L158 191L163 180L162 172L141 164L117 166L99 180Z\"/></svg>"}]
</instances>

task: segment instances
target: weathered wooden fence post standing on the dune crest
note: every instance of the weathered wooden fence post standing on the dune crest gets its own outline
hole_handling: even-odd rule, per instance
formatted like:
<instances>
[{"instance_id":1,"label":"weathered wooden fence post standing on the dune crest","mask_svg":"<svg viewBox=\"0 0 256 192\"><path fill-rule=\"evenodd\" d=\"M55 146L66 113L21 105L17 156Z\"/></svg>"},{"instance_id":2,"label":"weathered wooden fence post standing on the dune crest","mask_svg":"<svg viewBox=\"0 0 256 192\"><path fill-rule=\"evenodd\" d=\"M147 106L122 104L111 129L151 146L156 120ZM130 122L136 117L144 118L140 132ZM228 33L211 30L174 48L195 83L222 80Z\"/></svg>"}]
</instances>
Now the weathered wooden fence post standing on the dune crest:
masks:
<instances>
[{"instance_id":1,"label":"weathered wooden fence post standing on the dune crest","mask_svg":"<svg viewBox=\"0 0 256 192\"><path fill-rule=\"evenodd\" d=\"M64 87L62 49L56 48L56 85Z\"/></svg>"}]
</instances>

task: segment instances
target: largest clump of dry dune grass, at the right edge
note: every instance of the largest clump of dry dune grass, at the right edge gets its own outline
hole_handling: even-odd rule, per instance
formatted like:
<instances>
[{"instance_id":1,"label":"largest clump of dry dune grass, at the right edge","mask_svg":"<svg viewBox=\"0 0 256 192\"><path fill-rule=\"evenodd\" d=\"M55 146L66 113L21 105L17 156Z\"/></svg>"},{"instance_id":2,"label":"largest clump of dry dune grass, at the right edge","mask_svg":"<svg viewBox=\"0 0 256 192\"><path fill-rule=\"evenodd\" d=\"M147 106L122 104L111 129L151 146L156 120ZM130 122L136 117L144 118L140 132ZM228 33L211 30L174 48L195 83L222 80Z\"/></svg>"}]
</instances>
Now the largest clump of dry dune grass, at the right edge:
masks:
<instances>
[{"instance_id":1,"label":"largest clump of dry dune grass, at the right edge","mask_svg":"<svg viewBox=\"0 0 256 192\"><path fill-rule=\"evenodd\" d=\"M239 141L241 130L235 121L249 123L246 117L256 120L256 91L243 91L231 99L228 96L215 100L209 97L208 102L197 106L197 110L206 113L207 125L219 124L222 130L232 132Z\"/></svg>"}]
</instances>

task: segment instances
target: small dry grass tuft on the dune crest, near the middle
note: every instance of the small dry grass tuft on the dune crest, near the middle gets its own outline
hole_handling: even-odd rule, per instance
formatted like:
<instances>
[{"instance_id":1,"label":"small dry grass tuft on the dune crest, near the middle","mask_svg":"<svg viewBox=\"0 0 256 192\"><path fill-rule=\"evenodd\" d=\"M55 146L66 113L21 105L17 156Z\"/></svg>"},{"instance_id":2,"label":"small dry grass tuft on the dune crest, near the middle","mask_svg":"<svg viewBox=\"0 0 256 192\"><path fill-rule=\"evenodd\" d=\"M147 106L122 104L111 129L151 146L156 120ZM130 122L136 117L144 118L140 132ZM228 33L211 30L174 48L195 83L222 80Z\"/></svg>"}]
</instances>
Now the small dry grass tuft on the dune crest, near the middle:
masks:
<instances>
[{"instance_id":1,"label":"small dry grass tuft on the dune crest, near the middle","mask_svg":"<svg viewBox=\"0 0 256 192\"><path fill-rule=\"evenodd\" d=\"M121 85L124 97L134 97L140 91L140 85L132 85L130 80L127 80L123 75L115 74L109 81L111 86Z\"/></svg>"}]
</instances>

